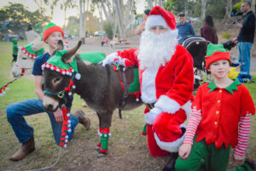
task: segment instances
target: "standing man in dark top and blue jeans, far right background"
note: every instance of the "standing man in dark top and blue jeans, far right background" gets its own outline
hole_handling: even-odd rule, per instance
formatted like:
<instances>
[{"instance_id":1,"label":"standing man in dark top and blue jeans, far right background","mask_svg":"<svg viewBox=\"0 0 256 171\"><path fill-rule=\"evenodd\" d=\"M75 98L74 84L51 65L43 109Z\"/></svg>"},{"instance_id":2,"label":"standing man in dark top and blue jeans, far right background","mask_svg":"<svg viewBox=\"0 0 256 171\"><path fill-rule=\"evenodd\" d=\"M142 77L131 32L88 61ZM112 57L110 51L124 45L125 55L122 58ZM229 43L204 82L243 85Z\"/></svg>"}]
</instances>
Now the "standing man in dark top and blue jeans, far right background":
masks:
<instances>
[{"instance_id":1,"label":"standing man in dark top and blue jeans, far right background","mask_svg":"<svg viewBox=\"0 0 256 171\"><path fill-rule=\"evenodd\" d=\"M246 1L241 3L241 11L244 14L242 24L237 23L235 26L241 28L238 40L238 60L241 63L240 70L245 74L250 74L251 66L251 48L255 31L255 15L251 10L251 3Z\"/></svg>"}]
</instances>

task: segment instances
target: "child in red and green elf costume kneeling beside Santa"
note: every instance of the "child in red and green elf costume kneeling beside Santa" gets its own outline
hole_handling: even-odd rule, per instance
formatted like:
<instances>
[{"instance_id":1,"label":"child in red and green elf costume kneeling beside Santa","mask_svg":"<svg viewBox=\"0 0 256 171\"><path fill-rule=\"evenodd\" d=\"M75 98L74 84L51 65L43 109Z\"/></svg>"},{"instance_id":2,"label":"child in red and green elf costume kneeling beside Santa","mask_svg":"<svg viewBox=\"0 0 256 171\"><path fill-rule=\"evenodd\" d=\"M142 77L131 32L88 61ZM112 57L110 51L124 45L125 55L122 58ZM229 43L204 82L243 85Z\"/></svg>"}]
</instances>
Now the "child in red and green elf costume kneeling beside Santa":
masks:
<instances>
[{"instance_id":1,"label":"child in red and green elf costume kneeling beside Santa","mask_svg":"<svg viewBox=\"0 0 256 171\"><path fill-rule=\"evenodd\" d=\"M211 83L198 88L189 117L183 145L180 146L176 170L224 171L230 159L244 161L250 131L250 115L255 107L248 89L228 77L230 54L222 44L209 44L206 66ZM253 170L247 159L234 170Z\"/></svg>"}]
</instances>

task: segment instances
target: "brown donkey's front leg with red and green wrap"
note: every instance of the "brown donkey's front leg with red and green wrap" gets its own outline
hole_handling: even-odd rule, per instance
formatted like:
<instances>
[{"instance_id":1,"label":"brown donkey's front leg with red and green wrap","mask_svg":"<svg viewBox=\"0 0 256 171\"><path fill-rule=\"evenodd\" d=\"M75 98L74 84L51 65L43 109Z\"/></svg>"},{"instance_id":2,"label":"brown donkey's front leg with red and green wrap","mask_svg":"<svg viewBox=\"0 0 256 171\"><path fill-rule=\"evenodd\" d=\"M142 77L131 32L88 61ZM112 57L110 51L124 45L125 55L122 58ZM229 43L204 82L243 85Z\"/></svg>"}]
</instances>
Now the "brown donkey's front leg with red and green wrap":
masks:
<instances>
[{"instance_id":1,"label":"brown donkey's front leg with red and green wrap","mask_svg":"<svg viewBox=\"0 0 256 171\"><path fill-rule=\"evenodd\" d=\"M107 155L108 151L108 138L111 135L109 128L111 126L113 112L97 113L100 120L100 128L98 134L101 136L100 143L97 145L99 148L99 157Z\"/></svg>"}]
</instances>

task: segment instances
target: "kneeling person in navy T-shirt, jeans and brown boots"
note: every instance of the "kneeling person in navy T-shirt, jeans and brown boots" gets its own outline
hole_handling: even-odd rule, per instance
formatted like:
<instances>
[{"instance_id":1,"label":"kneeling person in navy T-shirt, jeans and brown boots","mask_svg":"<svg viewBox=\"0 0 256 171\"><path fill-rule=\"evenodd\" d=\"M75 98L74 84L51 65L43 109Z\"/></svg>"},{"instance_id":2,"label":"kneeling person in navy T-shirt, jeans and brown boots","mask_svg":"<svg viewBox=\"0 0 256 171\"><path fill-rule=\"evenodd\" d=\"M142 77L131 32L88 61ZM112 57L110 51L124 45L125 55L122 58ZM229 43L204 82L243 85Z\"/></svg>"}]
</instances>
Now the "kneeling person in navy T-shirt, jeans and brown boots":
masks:
<instances>
[{"instance_id":1,"label":"kneeling person in navy T-shirt, jeans and brown boots","mask_svg":"<svg viewBox=\"0 0 256 171\"><path fill-rule=\"evenodd\" d=\"M38 99L25 100L15 104L8 105L6 108L7 119L14 129L15 135L22 144L19 151L17 151L10 160L19 161L26 157L27 154L35 150L35 143L33 138L33 128L26 123L24 116L30 116L41 112L46 112L43 107L44 88L43 88L43 70L42 65L50 58L50 55L57 48L58 41L62 40L64 32L60 26L54 23L49 23L44 27L43 40L49 47L49 52L39 56L33 66L32 74L35 76L35 92ZM70 111L73 101L73 96L67 100L67 111ZM55 137L55 143L61 143L61 131L63 115L61 108L58 108L54 113L46 112L52 126L52 131ZM64 118L65 119L65 118ZM82 123L85 128L90 127L90 120L84 117L83 111L77 111L74 115L70 115L70 132L67 132L67 140L73 136L74 128L78 123Z\"/></svg>"}]
</instances>

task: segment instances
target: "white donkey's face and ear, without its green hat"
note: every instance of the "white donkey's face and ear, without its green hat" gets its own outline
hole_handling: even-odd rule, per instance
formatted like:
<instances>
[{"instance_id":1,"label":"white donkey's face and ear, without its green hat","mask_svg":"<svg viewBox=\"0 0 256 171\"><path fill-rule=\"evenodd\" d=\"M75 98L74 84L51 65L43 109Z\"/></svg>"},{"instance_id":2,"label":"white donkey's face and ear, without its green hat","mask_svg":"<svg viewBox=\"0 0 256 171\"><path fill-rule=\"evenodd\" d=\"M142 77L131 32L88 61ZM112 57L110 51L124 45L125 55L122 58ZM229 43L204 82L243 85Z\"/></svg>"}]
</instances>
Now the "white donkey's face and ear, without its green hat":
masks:
<instances>
[{"instance_id":1,"label":"white donkey's face and ear, without its green hat","mask_svg":"<svg viewBox=\"0 0 256 171\"><path fill-rule=\"evenodd\" d=\"M41 42L40 39L41 38L36 39L32 42L32 50L34 52L38 52L43 47L44 42ZM22 48L19 48L17 61L15 63L15 66L13 66L12 68L12 74L15 78L31 74L32 67L35 61L35 57L32 58L31 56L25 54Z\"/></svg>"}]
</instances>

